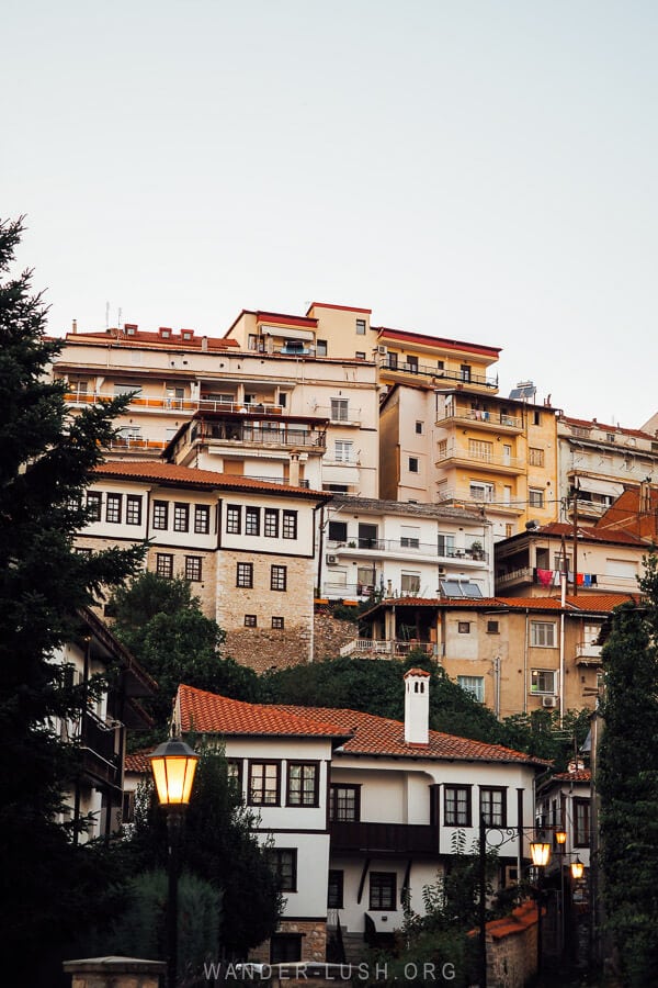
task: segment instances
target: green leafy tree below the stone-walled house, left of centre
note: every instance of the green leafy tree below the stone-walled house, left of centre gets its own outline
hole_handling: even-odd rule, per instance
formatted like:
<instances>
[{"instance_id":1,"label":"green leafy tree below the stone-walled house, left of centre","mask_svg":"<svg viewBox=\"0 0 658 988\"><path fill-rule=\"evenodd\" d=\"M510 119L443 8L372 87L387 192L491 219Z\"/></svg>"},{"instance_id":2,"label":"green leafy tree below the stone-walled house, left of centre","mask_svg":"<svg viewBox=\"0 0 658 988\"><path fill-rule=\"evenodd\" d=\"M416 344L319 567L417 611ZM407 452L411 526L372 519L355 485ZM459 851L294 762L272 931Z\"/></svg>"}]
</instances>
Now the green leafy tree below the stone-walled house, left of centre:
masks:
<instances>
[{"instance_id":1,"label":"green leafy tree below the stone-walled house, left of centre","mask_svg":"<svg viewBox=\"0 0 658 988\"><path fill-rule=\"evenodd\" d=\"M259 696L253 670L223 659L225 632L200 610L186 580L141 573L112 597L114 633L156 680L158 694L144 701L161 737L181 683L253 701ZM135 737L141 745L146 738Z\"/></svg>"}]
</instances>

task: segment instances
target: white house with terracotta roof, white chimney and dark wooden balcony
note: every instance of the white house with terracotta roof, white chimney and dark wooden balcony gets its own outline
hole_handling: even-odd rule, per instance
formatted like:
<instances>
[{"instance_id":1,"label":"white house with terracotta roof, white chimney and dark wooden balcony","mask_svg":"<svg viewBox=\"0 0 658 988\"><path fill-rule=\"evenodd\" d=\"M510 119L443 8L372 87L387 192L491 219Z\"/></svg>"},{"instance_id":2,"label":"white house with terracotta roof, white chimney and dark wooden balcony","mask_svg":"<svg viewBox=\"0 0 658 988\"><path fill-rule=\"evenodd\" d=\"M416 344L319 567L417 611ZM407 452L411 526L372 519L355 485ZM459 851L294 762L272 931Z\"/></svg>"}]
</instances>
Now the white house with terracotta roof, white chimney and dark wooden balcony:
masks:
<instances>
[{"instance_id":1,"label":"white house with terracotta roof, white chimney and dark wooden balcony","mask_svg":"<svg viewBox=\"0 0 658 988\"><path fill-rule=\"evenodd\" d=\"M333 956L361 961L364 939L376 946L401 927L404 902L424 911L423 886L443 871L457 830L469 846L480 816L491 827L532 826L534 781L547 763L429 730L423 670L407 672L405 691L401 723L179 687L178 727L222 738L281 879L279 930L251 959L325 961L333 940ZM525 838L506 850L502 880L529 856Z\"/></svg>"}]
</instances>

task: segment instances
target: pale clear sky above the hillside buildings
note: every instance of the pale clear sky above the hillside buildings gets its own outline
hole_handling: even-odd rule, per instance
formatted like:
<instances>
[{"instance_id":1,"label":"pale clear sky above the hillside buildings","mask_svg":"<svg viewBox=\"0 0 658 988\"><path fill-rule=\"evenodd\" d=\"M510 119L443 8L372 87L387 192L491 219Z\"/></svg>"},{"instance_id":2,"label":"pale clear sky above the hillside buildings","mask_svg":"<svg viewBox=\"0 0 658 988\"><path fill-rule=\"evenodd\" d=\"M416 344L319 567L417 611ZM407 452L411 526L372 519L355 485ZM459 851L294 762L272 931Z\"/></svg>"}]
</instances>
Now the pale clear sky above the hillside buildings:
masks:
<instances>
[{"instance_id":1,"label":"pale clear sky above the hillside buildings","mask_svg":"<svg viewBox=\"0 0 658 988\"><path fill-rule=\"evenodd\" d=\"M4 0L0 215L53 335L356 305L639 427L657 44L639 0Z\"/></svg>"}]
</instances>

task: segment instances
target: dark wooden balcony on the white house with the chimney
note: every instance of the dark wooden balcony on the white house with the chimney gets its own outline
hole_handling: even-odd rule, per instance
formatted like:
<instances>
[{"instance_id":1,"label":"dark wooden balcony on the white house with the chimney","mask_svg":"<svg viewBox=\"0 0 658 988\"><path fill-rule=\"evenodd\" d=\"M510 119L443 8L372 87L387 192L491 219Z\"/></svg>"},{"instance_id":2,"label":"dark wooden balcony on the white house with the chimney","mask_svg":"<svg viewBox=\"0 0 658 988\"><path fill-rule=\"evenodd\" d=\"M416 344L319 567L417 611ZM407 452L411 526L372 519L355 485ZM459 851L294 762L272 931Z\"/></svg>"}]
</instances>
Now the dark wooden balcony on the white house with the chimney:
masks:
<instances>
[{"instance_id":1,"label":"dark wooden balcony on the white house with the chimney","mask_svg":"<svg viewBox=\"0 0 658 988\"><path fill-rule=\"evenodd\" d=\"M329 823L332 854L373 854L400 857L439 854L439 832L431 823Z\"/></svg>"}]
</instances>

